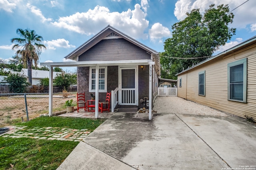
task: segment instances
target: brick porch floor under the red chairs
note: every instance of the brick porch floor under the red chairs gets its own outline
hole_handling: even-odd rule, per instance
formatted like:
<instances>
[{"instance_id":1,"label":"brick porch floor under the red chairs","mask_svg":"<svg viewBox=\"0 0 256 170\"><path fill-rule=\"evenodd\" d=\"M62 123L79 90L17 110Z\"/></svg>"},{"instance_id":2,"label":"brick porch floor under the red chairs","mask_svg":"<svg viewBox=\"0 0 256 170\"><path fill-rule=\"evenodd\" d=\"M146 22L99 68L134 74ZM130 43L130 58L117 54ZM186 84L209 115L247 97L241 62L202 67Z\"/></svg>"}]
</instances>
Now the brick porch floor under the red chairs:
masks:
<instances>
[{"instance_id":1,"label":"brick porch floor under the red chairs","mask_svg":"<svg viewBox=\"0 0 256 170\"><path fill-rule=\"evenodd\" d=\"M102 118L102 119L108 119L110 118L115 112L107 112L104 111L103 113L99 113L98 118ZM84 110L79 110L79 112L74 111L74 112L70 112L70 113L64 113L58 116L62 116L62 117L82 117L82 118L95 118L95 112L91 112L91 111L84 111Z\"/></svg>"}]
</instances>

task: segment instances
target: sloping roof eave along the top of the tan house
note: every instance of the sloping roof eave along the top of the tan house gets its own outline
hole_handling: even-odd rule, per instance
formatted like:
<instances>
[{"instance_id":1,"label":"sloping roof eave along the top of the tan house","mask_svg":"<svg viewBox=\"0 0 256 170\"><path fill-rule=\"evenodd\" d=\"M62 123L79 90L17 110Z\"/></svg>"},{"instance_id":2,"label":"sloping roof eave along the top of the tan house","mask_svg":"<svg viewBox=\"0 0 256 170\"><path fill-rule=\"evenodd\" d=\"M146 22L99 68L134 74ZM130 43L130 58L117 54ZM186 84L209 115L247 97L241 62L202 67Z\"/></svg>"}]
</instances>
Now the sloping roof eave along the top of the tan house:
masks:
<instances>
[{"instance_id":1,"label":"sloping roof eave along the top of the tan house","mask_svg":"<svg viewBox=\"0 0 256 170\"><path fill-rule=\"evenodd\" d=\"M196 68L204 63L209 63L211 62L212 60L216 59L216 58L220 58L220 57L223 57L225 55L228 55L229 53L234 53L234 51L238 51L240 49L243 49L251 44L254 44L256 43L256 36L254 37L251 37L250 39L247 39L246 41L243 41L242 43L239 43L238 45L235 45L234 47L231 47L230 49L227 49L226 51L223 51L222 53L218 54L218 55L215 55L213 57L210 57L209 59L206 59L205 61L202 61L201 63L198 63L190 68L187 68L186 70L183 70L182 72L179 72L177 75L179 74L182 74L183 72L186 72L188 70L191 70L193 68Z\"/></svg>"}]
</instances>

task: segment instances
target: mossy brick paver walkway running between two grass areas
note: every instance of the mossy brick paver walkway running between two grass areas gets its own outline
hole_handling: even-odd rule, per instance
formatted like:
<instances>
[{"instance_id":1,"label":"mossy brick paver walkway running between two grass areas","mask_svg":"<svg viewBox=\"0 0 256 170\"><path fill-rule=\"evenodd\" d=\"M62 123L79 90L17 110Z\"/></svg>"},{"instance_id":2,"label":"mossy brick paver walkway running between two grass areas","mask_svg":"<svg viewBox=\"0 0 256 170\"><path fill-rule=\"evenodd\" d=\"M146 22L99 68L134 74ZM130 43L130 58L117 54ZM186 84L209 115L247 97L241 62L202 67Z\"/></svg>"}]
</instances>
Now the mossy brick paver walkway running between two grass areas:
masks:
<instances>
[{"instance_id":1,"label":"mossy brick paver walkway running between two grass areas","mask_svg":"<svg viewBox=\"0 0 256 170\"><path fill-rule=\"evenodd\" d=\"M88 129L70 129L68 127L34 127L9 126L10 131L1 134L2 137L29 137L34 139L48 139L60 141L80 141L85 138L90 131Z\"/></svg>"}]
</instances>

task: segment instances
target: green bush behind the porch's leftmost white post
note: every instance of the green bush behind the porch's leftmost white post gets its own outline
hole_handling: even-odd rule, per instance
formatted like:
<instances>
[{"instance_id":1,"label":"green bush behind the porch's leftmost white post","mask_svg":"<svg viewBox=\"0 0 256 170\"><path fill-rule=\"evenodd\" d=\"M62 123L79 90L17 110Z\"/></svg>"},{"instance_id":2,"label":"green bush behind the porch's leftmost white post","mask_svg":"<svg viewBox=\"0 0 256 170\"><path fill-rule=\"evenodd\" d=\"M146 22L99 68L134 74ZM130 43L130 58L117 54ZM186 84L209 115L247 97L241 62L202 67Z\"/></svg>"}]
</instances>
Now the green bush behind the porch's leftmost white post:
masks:
<instances>
[{"instance_id":1,"label":"green bush behind the porch's leftmost white post","mask_svg":"<svg viewBox=\"0 0 256 170\"><path fill-rule=\"evenodd\" d=\"M69 86L76 84L76 74L62 72L55 77L54 84L55 86L64 87L64 90L66 90Z\"/></svg>"}]
</instances>

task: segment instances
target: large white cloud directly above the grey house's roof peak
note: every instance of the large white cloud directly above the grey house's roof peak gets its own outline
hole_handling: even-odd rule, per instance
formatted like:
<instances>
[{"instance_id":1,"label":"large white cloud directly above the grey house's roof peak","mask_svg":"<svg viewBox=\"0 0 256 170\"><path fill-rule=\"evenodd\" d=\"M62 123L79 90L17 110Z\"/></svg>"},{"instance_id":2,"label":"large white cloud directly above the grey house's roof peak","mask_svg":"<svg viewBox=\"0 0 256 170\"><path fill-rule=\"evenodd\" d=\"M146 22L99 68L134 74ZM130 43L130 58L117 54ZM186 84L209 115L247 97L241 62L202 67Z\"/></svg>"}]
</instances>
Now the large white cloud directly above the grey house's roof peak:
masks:
<instances>
[{"instance_id":1,"label":"large white cloud directly above the grey house's roof peak","mask_svg":"<svg viewBox=\"0 0 256 170\"><path fill-rule=\"evenodd\" d=\"M134 10L128 9L119 13L110 12L103 6L96 6L87 12L77 12L71 16L60 17L52 24L86 35L94 35L100 29L111 25L131 37L146 39L147 34L144 33L144 30L148 27L149 21L145 19L146 13L141 10L139 4L134 7Z\"/></svg>"}]
</instances>

